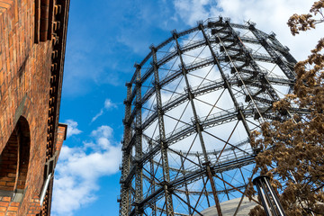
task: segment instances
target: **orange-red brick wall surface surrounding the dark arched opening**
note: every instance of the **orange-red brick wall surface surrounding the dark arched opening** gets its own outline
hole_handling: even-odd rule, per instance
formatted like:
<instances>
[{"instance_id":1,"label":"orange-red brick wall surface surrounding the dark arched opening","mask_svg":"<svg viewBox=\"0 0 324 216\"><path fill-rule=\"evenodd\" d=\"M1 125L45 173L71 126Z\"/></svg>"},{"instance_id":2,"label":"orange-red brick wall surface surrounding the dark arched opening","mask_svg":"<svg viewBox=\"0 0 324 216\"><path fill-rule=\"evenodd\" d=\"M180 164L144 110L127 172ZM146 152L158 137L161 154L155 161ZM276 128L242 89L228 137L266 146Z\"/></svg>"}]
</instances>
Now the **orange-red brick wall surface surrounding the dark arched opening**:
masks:
<instances>
[{"instance_id":1,"label":"orange-red brick wall surface surrounding the dark arched opening","mask_svg":"<svg viewBox=\"0 0 324 216\"><path fill-rule=\"evenodd\" d=\"M59 107L59 98L53 97L53 89L50 87L58 77L58 88L61 87L63 68L59 68L56 75L53 75L52 52L55 52L53 40L56 35L52 37L53 40L50 40L49 34L49 40L35 43L36 1L40 0L0 0L0 154L5 153L5 146L21 116L28 121L31 139L28 167L20 167L21 173L27 170L28 173L18 179L18 184L25 184L27 189L22 202L13 202L18 215L27 215L31 201L35 200L35 195L40 195L44 164L47 155L49 157L48 141L57 135L49 133L49 130L58 130L58 122L54 120L55 123L50 124L53 120L49 118L49 113L53 112L53 108L49 109L49 104L55 101ZM49 2L55 4L57 1L61 2ZM64 59L64 53L56 51L63 56L57 60L60 63ZM58 96L60 97L60 89ZM55 112L58 119L58 112ZM1 216L1 212L4 212L1 206L13 204L7 197L0 196L0 199L4 199L0 202Z\"/></svg>"}]
</instances>

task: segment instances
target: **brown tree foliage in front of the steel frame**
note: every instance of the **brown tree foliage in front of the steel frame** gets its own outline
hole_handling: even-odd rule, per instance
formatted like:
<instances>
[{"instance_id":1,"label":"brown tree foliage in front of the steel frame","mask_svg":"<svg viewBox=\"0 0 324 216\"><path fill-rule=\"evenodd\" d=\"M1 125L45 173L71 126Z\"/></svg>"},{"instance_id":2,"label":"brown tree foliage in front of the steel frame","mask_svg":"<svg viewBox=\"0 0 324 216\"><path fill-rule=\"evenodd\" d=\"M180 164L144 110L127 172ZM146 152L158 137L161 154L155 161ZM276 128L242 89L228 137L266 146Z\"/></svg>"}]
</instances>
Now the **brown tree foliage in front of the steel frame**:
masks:
<instances>
[{"instance_id":1,"label":"brown tree foliage in front of the steel frame","mask_svg":"<svg viewBox=\"0 0 324 216\"><path fill-rule=\"evenodd\" d=\"M315 2L310 14L293 14L288 21L293 35L315 29L324 22L324 0ZM274 104L274 112L289 116L292 107L308 110L286 121L264 123L255 131L251 144L261 148L255 172L269 175L280 194L288 216L324 215L324 38L311 55L294 67L293 94ZM274 175L278 176L275 180ZM255 194L253 187L247 189ZM250 215L266 215L259 206Z\"/></svg>"}]
</instances>

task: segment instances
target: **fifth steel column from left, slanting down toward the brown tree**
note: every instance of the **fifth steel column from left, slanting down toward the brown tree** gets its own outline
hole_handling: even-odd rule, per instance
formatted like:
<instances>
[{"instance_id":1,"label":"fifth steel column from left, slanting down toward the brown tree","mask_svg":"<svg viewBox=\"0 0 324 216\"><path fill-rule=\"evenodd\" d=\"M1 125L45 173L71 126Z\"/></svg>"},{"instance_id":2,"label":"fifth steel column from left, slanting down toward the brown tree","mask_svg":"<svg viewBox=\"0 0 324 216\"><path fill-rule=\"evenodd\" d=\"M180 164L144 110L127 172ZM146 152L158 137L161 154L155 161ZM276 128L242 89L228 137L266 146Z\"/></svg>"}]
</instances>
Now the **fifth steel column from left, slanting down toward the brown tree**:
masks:
<instances>
[{"instance_id":1,"label":"fifth steel column from left, slanting down toward the brown tree","mask_svg":"<svg viewBox=\"0 0 324 216\"><path fill-rule=\"evenodd\" d=\"M214 64L220 70L220 76L224 80L224 87L228 89L230 98L232 99L232 101L234 103L234 106L235 106L235 108L238 111L238 119L243 122L243 126L244 126L245 130L247 131L247 135L250 136L251 135L251 131L248 128L248 125L247 125L247 121L245 119L245 116L244 116L244 114L242 112L241 107L239 107L238 101L237 101L237 99L236 99L236 97L235 97L235 95L234 95L234 93L233 93L233 91L232 91L232 89L231 89L231 87L229 85L229 80L225 76L224 71L222 70L222 68L220 66L220 61L217 59L214 50L211 48L211 41L208 39L208 37L206 35L206 32L203 30L202 23L199 23L198 27L202 31L203 38L204 38L204 40L206 40L206 44L208 45L209 49L211 50L211 56L212 56L212 58L214 60Z\"/></svg>"}]
</instances>

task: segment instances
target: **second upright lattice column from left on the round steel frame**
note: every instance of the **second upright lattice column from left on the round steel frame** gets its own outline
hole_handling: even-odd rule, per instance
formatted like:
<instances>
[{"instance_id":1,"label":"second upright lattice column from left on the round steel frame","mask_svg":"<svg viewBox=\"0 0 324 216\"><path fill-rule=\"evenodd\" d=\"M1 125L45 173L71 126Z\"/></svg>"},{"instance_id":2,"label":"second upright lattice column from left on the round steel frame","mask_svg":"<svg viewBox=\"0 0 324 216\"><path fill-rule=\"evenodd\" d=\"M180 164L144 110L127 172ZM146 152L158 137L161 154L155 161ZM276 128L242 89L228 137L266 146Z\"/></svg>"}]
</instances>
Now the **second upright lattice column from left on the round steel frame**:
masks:
<instances>
[{"instance_id":1,"label":"second upright lattice column from left on the round steel frame","mask_svg":"<svg viewBox=\"0 0 324 216\"><path fill-rule=\"evenodd\" d=\"M143 210L138 203L143 199L143 171L142 165L139 163L142 157L142 130L141 130L141 80L140 80L140 66L136 67L136 121L135 121L135 212L136 215L143 215Z\"/></svg>"}]
</instances>

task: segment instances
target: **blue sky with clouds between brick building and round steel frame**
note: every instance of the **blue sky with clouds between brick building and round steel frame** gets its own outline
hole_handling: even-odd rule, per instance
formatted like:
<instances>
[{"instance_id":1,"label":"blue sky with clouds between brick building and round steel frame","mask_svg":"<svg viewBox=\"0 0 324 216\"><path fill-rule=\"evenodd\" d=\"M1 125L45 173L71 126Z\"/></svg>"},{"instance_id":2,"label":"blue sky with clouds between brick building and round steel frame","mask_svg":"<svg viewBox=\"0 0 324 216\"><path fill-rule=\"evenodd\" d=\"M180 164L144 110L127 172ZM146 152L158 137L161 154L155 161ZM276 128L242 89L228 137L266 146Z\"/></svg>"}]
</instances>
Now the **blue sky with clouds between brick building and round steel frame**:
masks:
<instances>
[{"instance_id":1,"label":"blue sky with clouds between brick building and round steel frame","mask_svg":"<svg viewBox=\"0 0 324 216\"><path fill-rule=\"evenodd\" d=\"M308 0L71 0L60 122L68 136L58 160L53 215L118 215L123 100L134 63L170 31L228 16L275 31L295 58L306 58L319 32L293 37L286 22ZM308 39L310 42L304 42Z\"/></svg>"}]
</instances>

